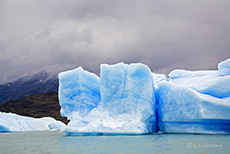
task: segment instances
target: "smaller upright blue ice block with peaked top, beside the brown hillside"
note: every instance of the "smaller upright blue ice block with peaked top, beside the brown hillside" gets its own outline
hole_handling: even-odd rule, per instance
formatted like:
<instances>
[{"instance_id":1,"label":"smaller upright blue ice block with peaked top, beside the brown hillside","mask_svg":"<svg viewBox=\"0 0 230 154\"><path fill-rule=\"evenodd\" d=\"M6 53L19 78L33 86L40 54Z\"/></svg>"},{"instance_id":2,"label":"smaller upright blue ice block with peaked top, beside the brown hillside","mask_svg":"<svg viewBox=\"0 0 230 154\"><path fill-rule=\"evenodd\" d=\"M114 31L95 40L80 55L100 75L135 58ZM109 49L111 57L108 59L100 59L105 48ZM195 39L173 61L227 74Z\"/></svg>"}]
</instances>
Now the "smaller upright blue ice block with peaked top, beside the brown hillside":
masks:
<instances>
[{"instance_id":1,"label":"smaller upright blue ice block with peaked top, beside the brown hillside","mask_svg":"<svg viewBox=\"0 0 230 154\"><path fill-rule=\"evenodd\" d=\"M100 79L78 67L59 74L61 115L73 120L73 115L86 116L101 100ZM76 118L76 116L74 116Z\"/></svg>"}]
</instances>

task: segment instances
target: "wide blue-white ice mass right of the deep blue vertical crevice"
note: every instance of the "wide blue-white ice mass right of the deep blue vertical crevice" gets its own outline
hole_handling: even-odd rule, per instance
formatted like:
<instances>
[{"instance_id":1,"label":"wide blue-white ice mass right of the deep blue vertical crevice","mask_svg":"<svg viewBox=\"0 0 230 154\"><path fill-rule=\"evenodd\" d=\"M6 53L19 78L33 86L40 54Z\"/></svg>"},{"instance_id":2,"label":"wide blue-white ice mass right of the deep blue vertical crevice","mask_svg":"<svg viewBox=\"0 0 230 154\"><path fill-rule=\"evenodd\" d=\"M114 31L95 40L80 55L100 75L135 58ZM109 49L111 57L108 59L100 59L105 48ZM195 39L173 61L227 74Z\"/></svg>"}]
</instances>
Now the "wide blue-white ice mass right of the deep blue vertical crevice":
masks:
<instances>
[{"instance_id":1,"label":"wide blue-white ice mass right of the deep blue vertical crevice","mask_svg":"<svg viewBox=\"0 0 230 154\"><path fill-rule=\"evenodd\" d=\"M225 61L224 66L228 66ZM230 75L174 70L157 88L158 125L165 133L230 133ZM229 69L230 70L230 69ZM223 73L225 72L225 73Z\"/></svg>"}]
</instances>

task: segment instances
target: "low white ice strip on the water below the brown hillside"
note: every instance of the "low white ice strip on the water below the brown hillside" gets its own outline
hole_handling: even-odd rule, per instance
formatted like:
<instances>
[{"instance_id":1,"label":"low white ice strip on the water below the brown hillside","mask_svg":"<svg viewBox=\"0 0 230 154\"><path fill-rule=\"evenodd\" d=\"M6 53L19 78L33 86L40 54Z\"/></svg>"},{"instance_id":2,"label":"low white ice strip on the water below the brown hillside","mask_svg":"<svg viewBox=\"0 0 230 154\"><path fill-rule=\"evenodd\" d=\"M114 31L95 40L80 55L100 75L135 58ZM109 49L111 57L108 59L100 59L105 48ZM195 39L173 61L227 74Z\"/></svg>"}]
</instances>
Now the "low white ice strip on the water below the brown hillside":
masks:
<instances>
[{"instance_id":1,"label":"low white ice strip on the water below the brown hillside","mask_svg":"<svg viewBox=\"0 0 230 154\"><path fill-rule=\"evenodd\" d=\"M66 125L51 117L32 118L0 112L0 132L61 130Z\"/></svg>"}]
</instances>

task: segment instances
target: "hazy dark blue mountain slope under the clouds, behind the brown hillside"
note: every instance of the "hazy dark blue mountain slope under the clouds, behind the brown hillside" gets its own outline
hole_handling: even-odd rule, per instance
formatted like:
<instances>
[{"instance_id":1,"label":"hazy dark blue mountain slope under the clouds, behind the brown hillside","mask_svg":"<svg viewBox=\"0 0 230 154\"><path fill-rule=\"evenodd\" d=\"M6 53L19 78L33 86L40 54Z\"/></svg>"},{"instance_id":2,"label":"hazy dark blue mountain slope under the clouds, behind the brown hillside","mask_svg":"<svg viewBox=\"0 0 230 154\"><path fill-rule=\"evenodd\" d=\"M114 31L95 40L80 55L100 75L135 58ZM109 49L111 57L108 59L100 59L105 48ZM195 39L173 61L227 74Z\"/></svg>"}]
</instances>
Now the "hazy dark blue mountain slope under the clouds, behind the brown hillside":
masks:
<instances>
[{"instance_id":1,"label":"hazy dark blue mountain slope under the clouds, behind the brown hillside","mask_svg":"<svg viewBox=\"0 0 230 154\"><path fill-rule=\"evenodd\" d=\"M45 71L22 77L14 82L0 85L0 104L32 94L58 90L57 75Z\"/></svg>"}]
</instances>

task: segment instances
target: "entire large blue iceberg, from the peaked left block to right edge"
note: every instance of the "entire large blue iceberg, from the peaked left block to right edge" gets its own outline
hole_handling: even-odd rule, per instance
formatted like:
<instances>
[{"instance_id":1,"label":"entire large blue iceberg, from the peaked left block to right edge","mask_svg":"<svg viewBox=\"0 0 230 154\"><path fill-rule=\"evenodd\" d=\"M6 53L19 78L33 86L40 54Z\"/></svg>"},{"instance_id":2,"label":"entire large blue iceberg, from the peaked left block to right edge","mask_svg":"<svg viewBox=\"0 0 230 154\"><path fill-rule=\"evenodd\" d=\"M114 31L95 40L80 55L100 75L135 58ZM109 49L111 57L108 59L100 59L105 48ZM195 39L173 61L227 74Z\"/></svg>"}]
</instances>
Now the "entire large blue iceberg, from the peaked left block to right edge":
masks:
<instances>
[{"instance_id":1,"label":"entire large blue iceberg, from the peaked left block to right edge","mask_svg":"<svg viewBox=\"0 0 230 154\"><path fill-rule=\"evenodd\" d=\"M135 63L59 74L68 135L230 134L230 59L218 70L174 70L166 78Z\"/></svg>"}]
</instances>

